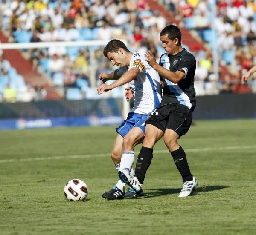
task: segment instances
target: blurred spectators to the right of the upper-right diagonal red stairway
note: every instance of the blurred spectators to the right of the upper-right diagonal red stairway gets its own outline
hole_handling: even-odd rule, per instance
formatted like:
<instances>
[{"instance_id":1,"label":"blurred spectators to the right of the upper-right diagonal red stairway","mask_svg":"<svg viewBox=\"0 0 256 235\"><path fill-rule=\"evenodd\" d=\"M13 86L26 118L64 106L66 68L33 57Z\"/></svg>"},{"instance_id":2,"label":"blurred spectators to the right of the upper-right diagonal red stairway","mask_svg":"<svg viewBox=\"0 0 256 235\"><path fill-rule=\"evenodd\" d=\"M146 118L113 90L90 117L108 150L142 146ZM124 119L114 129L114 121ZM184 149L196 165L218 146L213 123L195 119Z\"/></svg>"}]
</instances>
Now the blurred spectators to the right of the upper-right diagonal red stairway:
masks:
<instances>
[{"instance_id":1,"label":"blurred spectators to the right of the upper-right diagonal red stairway","mask_svg":"<svg viewBox=\"0 0 256 235\"><path fill-rule=\"evenodd\" d=\"M218 45L218 55L223 66L227 66L233 77L217 77L206 60L200 46L194 48L197 58L197 95L236 92L236 83L253 65L256 65L256 0L163 0L176 20L187 29L197 32L204 43ZM216 17L214 17L216 15ZM216 36L212 34L212 27ZM256 75L250 80L250 89L256 92ZM213 85L215 83L215 86ZM209 84L211 84L209 86ZM215 87L215 89L212 89ZM209 90L210 88L210 90ZM214 90L214 91L213 91Z\"/></svg>"}]
</instances>

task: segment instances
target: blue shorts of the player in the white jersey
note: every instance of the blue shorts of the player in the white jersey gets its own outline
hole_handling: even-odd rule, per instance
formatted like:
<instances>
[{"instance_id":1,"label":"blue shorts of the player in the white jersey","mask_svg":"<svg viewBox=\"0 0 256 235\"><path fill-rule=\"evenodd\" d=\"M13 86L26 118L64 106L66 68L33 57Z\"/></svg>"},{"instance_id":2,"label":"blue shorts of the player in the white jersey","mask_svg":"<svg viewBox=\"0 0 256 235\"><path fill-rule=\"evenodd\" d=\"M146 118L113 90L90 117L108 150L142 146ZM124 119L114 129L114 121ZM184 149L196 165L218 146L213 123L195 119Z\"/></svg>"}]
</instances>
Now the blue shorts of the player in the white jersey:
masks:
<instances>
[{"instance_id":1,"label":"blue shorts of the player in the white jersey","mask_svg":"<svg viewBox=\"0 0 256 235\"><path fill-rule=\"evenodd\" d=\"M145 134L145 120L148 118L149 114L138 114L134 112L129 112L126 120L121 124L121 126L116 128L116 132L125 137L125 135L135 126L140 127Z\"/></svg>"}]
</instances>

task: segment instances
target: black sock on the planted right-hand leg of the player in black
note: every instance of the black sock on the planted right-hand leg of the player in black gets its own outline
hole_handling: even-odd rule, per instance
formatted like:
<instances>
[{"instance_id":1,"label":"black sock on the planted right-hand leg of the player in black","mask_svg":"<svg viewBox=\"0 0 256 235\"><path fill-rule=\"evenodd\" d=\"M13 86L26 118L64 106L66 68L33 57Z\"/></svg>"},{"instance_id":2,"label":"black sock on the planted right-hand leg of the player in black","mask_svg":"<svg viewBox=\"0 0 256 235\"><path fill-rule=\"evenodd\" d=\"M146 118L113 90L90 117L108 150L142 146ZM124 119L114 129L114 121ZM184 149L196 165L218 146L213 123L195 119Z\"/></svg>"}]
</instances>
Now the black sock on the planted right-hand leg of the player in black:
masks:
<instances>
[{"instance_id":1,"label":"black sock on the planted right-hand leg of the player in black","mask_svg":"<svg viewBox=\"0 0 256 235\"><path fill-rule=\"evenodd\" d=\"M193 176L190 173L189 165L186 160L186 153L184 152L183 148L180 146L179 149L172 151L171 154L172 154L172 158L175 162L175 165L176 165L177 169L179 170L180 175L182 176L183 182L192 181Z\"/></svg>"}]
</instances>

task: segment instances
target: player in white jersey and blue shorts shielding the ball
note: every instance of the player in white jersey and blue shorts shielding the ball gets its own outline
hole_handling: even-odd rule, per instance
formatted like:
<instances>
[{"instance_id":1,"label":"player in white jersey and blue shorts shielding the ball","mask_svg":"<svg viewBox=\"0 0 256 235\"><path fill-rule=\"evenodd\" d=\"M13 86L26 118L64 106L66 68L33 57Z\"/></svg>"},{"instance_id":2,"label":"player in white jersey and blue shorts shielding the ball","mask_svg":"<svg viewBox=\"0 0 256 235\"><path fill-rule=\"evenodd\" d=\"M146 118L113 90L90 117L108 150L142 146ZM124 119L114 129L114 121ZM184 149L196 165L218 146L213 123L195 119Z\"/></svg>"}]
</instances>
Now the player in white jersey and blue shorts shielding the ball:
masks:
<instances>
[{"instance_id":1,"label":"player in white jersey and blue shorts shielding the ball","mask_svg":"<svg viewBox=\"0 0 256 235\"><path fill-rule=\"evenodd\" d=\"M116 80L110 85L102 84L97 90L99 94L130 83L134 92L134 106L126 120L116 128L117 136L111 151L111 158L117 171L123 170L131 177L134 176L132 169L134 163L134 147L142 143L145 133L145 120L148 115L159 106L162 97L162 85L159 74L148 65L145 56L137 52L130 52L120 40L111 40L106 45L104 56L119 69L108 74L100 74L100 80ZM134 84L133 84L134 83ZM125 194L125 183L120 179L102 197L109 200L128 197L142 196L143 190L134 192L133 189Z\"/></svg>"}]
</instances>

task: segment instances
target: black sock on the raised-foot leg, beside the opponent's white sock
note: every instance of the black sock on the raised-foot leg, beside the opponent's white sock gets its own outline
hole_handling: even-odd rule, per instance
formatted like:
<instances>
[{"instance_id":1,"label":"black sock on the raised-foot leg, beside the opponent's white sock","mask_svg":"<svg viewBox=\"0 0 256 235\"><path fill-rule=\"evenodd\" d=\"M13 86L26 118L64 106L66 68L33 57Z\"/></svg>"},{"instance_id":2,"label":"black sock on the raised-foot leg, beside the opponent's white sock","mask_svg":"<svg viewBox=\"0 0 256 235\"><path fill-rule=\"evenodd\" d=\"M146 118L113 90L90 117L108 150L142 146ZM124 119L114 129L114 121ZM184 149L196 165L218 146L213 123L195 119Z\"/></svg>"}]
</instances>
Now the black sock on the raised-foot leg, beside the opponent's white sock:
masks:
<instances>
[{"instance_id":1,"label":"black sock on the raised-foot leg, beside the opponent's white sock","mask_svg":"<svg viewBox=\"0 0 256 235\"><path fill-rule=\"evenodd\" d=\"M151 164L153 158L153 149L142 147L140 149L140 154L137 158L135 175L138 178L139 182L142 184L145 178L148 167Z\"/></svg>"}]
</instances>

